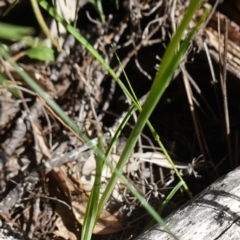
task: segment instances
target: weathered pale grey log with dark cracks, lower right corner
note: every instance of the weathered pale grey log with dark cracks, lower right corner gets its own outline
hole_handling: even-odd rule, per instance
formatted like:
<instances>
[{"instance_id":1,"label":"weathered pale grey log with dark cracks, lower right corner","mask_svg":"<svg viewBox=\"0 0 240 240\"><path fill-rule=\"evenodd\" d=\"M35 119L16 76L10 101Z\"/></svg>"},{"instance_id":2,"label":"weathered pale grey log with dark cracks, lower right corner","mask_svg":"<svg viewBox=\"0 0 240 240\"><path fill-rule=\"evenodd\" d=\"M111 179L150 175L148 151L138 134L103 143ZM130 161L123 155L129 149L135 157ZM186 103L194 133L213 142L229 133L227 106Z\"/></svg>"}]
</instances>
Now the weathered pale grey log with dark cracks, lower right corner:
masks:
<instances>
[{"instance_id":1,"label":"weathered pale grey log with dark cracks, lower right corner","mask_svg":"<svg viewBox=\"0 0 240 240\"><path fill-rule=\"evenodd\" d=\"M240 168L221 177L165 219L180 240L240 239ZM173 239L155 225L136 240Z\"/></svg>"}]
</instances>

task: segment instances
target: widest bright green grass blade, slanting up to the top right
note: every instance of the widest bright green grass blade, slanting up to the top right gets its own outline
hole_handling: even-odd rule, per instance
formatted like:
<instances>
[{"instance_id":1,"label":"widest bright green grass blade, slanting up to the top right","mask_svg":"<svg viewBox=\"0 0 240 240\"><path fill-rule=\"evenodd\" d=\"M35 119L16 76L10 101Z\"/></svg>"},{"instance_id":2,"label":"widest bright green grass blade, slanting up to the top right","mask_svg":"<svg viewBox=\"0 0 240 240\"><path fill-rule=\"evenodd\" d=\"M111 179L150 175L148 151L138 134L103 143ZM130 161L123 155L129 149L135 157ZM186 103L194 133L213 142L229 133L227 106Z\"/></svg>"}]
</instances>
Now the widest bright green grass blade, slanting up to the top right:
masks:
<instances>
[{"instance_id":1,"label":"widest bright green grass blade, slanting up to the top right","mask_svg":"<svg viewBox=\"0 0 240 240\"><path fill-rule=\"evenodd\" d=\"M150 114L152 113L153 109L155 108L157 102L159 101L159 99L162 96L163 92L165 91L166 87L170 83L170 80L174 73L174 68L176 68L178 66L178 64L180 63L180 59L176 59L174 55L175 55L175 52L181 41L181 38L183 36L185 29L188 27L188 24L191 21L193 15L195 14L196 10L198 9L200 3L201 3L201 0L191 1L189 8L183 17L183 20L182 20L179 28L177 29L175 35L173 36L173 39L171 40L171 42L169 43L169 45L166 49L166 52L162 59L161 67L155 77L151 91L148 95L146 102L143 105L143 109L139 115L138 121L135 124L135 126L127 140L126 147L124 148L122 155L120 157L120 160L116 166L118 171L122 171L123 167L125 166L128 158L137 142L137 139L143 130L143 127L145 126L145 124L147 123L147 121L150 117ZM190 40L190 39L188 39L188 40ZM171 69L171 72L168 71L169 69ZM109 180L109 185L107 186L107 188L105 190L106 192L108 192L108 194L112 191L111 187L116 184L117 178L118 177L116 176L116 174L113 174L111 179ZM187 187L184 181L183 181L183 185L185 185L185 187ZM100 204L99 209L103 209L108 197L109 196L106 196L106 198L103 198L103 197L101 198L100 203L99 203Z\"/></svg>"}]
</instances>

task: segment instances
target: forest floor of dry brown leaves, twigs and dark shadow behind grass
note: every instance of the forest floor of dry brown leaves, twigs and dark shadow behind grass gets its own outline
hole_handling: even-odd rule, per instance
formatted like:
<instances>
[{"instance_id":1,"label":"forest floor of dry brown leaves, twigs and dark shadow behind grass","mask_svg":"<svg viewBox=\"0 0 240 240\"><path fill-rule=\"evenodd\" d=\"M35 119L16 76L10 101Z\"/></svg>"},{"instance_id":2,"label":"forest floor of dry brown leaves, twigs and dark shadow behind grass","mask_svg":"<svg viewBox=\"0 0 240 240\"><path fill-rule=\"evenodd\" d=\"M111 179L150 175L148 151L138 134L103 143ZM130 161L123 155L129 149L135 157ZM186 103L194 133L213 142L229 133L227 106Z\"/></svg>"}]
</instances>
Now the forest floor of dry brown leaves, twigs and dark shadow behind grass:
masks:
<instances>
[{"instance_id":1,"label":"forest floor of dry brown leaves, twigs and dark shadow behind grass","mask_svg":"<svg viewBox=\"0 0 240 240\"><path fill-rule=\"evenodd\" d=\"M3 16L11 2L0 4L0 22L33 27L35 36L42 37L29 1L20 1ZM213 7L216 1L208 2ZM76 27L127 86L124 67L137 98L144 102L188 3L126 0L119 1L117 8L116 1L104 0L103 23L92 5L82 1ZM47 12L43 15L51 22ZM62 39L64 51L56 51L52 62L25 56L26 46L20 42L3 42L17 63L94 139L99 132L114 129L131 103L79 42L64 32ZM184 166L179 169L193 195L239 166L239 45L240 5L234 0L222 1L194 38L149 119L176 166ZM94 154L78 152L84 143L7 62L0 61L1 76L15 81L23 94L16 97L0 85L0 232L6 239L79 239L93 182ZM113 162L121 155L136 118L137 113L123 129ZM153 153L158 160L166 160L146 127L132 159L153 161ZM58 165L46 170L46 160ZM125 175L156 209L178 183L172 169L163 163L131 167ZM149 222L150 217L126 187L119 184L114 194L93 239L133 239ZM179 191L162 216L188 200Z\"/></svg>"}]
</instances>

